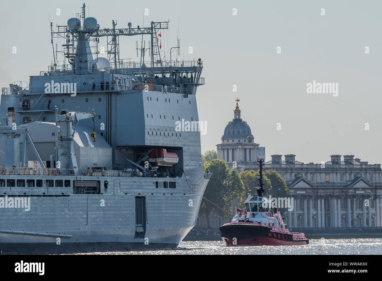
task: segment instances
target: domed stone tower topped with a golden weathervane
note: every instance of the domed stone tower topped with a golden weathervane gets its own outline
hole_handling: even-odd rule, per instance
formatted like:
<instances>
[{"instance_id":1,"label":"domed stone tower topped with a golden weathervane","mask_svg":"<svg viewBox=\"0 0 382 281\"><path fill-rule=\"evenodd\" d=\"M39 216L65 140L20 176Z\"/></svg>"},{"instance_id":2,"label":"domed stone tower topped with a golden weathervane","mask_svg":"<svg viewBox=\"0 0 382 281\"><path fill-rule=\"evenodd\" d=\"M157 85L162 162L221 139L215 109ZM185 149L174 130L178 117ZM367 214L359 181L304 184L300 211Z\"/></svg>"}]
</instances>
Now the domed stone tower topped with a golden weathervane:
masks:
<instances>
[{"instance_id":1,"label":"domed stone tower topped with a golden weathervane","mask_svg":"<svg viewBox=\"0 0 382 281\"><path fill-rule=\"evenodd\" d=\"M222 143L216 146L217 158L224 160L230 169L235 168L240 173L257 170L257 157L264 157L265 160L265 148L254 142L251 128L241 119L239 101L236 99L234 118L225 126Z\"/></svg>"}]
</instances>

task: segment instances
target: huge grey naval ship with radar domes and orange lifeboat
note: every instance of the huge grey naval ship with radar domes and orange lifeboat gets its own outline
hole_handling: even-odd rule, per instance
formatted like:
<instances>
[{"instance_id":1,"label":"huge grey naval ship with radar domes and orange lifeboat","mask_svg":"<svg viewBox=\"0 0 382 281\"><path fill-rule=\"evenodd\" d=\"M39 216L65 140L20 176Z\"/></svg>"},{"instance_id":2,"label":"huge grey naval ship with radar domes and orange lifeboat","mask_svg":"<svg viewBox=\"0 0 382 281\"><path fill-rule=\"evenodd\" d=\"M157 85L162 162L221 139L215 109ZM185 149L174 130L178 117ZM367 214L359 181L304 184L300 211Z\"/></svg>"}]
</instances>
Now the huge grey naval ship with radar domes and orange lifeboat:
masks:
<instances>
[{"instance_id":1,"label":"huge grey naval ship with radar domes and orange lifeboat","mask_svg":"<svg viewBox=\"0 0 382 281\"><path fill-rule=\"evenodd\" d=\"M85 17L84 4L67 25L50 23L47 70L2 88L3 253L173 248L196 224L211 176L195 96L202 60L161 58L168 21L116 26ZM139 62L120 58L120 36L134 35L150 36Z\"/></svg>"}]
</instances>

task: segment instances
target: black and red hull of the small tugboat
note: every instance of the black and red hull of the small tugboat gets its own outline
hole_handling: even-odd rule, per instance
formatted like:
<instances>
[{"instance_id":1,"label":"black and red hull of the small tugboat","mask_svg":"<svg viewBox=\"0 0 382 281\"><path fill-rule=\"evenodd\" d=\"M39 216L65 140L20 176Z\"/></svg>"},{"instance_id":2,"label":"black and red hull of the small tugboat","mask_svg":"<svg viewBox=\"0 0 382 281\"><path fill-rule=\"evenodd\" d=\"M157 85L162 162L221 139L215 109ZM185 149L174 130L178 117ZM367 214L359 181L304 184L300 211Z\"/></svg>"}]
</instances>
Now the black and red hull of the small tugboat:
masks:
<instances>
[{"instance_id":1,"label":"black and red hull of the small tugboat","mask_svg":"<svg viewBox=\"0 0 382 281\"><path fill-rule=\"evenodd\" d=\"M306 245L303 233L289 233L287 229L255 223L229 223L220 226L226 246L285 246Z\"/></svg>"}]
</instances>

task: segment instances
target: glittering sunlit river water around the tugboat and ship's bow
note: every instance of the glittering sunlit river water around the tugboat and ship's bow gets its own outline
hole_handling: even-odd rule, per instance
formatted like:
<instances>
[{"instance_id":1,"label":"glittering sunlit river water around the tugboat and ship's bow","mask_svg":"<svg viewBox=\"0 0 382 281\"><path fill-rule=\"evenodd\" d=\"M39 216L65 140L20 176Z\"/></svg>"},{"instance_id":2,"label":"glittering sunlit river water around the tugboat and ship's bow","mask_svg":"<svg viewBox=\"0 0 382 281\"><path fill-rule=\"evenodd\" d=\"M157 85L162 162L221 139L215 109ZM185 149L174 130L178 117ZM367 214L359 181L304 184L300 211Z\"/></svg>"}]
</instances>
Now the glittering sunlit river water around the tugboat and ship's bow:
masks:
<instances>
[{"instance_id":1,"label":"glittering sunlit river water around the tugboat and ship's bow","mask_svg":"<svg viewBox=\"0 0 382 281\"><path fill-rule=\"evenodd\" d=\"M301 246L225 247L223 241L185 241L176 249L87 253L108 255L380 255L382 238L310 239Z\"/></svg>"}]
</instances>

